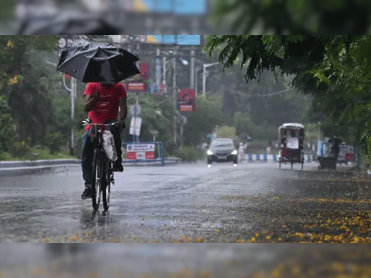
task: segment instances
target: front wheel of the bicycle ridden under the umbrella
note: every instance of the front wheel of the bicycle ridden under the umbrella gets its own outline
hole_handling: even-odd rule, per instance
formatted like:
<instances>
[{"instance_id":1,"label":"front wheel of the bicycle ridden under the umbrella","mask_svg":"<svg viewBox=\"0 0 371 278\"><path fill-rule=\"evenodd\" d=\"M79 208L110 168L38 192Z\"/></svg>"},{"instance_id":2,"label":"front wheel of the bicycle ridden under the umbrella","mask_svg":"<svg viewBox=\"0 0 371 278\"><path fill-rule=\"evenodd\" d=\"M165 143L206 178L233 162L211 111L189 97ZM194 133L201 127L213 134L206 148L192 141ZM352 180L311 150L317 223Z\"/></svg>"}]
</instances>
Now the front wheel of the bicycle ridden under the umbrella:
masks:
<instances>
[{"instance_id":1,"label":"front wheel of the bicycle ridden under the umbrella","mask_svg":"<svg viewBox=\"0 0 371 278\"><path fill-rule=\"evenodd\" d=\"M99 148L94 149L93 159L93 184L92 184L92 205L94 211L98 211L99 202L101 201L102 188L102 156Z\"/></svg>"}]
</instances>

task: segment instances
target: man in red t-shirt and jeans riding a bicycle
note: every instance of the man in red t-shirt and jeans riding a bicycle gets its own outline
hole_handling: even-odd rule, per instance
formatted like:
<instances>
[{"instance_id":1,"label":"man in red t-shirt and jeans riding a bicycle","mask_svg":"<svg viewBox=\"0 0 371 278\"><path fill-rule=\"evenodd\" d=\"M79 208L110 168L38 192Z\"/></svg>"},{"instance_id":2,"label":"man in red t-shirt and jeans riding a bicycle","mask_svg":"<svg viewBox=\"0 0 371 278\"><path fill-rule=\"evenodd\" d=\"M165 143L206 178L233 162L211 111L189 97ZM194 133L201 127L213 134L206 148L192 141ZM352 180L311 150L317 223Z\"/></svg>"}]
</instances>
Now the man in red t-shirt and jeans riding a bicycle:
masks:
<instances>
[{"instance_id":1,"label":"man in red t-shirt and jeans riding a bicycle","mask_svg":"<svg viewBox=\"0 0 371 278\"><path fill-rule=\"evenodd\" d=\"M88 118L92 123L112 123L116 122L119 115L119 125L112 128L110 131L114 136L115 146L118 159L113 165L115 172L122 172L121 158L121 138L120 133L125 128L125 118L127 116L127 94L124 86L121 83L88 83L84 92L84 108L88 112ZM89 138L90 125L86 126L85 134L82 138L82 176L85 181L85 190L81 195L81 199L91 198L92 186L92 163L94 155L94 145Z\"/></svg>"}]
</instances>

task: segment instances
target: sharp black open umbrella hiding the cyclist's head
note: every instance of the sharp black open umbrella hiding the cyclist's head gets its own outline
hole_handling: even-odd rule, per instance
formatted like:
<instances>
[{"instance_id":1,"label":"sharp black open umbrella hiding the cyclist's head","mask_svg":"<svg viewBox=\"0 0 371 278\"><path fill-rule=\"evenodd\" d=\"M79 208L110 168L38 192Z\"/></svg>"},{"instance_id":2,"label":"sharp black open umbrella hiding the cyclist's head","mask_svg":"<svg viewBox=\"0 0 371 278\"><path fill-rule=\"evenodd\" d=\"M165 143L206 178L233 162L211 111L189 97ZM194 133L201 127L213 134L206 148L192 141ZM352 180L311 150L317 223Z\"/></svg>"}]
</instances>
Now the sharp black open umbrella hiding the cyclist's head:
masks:
<instances>
[{"instance_id":1,"label":"sharp black open umbrella hiding the cyclist's head","mask_svg":"<svg viewBox=\"0 0 371 278\"><path fill-rule=\"evenodd\" d=\"M86 43L64 49L57 69L82 82L117 83L140 73L138 60L110 43Z\"/></svg>"}]
</instances>

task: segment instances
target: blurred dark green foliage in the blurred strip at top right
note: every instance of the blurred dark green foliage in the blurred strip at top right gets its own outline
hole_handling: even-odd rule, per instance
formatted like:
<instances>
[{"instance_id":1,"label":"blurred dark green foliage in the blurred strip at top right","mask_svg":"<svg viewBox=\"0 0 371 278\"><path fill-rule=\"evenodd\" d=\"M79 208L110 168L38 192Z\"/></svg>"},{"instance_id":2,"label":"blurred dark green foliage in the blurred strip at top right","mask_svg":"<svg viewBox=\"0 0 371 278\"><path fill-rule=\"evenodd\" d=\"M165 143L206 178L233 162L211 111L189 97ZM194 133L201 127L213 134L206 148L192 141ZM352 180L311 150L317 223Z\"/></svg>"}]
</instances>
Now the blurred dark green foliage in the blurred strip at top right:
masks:
<instances>
[{"instance_id":1,"label":"blurred dark green foliage in the blurred strip at top right","mask_svg":"<svg viewBox=\"0 0 371 278\"><path fill-rule=\"evenodd\" d=\"M360 34L370 8L367 0L217 0L214 18L230 33Z\"/></svg>"}]
</instances>

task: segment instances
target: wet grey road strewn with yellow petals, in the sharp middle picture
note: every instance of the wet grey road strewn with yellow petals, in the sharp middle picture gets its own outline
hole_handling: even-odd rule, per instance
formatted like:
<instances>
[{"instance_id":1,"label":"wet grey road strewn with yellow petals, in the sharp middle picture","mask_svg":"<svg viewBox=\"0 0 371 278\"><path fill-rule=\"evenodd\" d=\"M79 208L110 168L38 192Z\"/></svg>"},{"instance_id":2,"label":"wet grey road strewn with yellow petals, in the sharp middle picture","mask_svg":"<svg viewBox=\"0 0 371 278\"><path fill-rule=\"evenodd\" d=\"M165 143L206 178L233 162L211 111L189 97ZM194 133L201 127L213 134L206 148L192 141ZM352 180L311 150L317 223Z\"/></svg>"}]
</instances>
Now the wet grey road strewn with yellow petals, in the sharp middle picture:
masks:
<instances>
[{"instance_id":1,"label":"wet grey road strewn with yellow petals, in the sharp middle picture","mask_svg":"<svg viewBox=\"0 0 371 278\"><path fill-rule=\"evenodd\" d=\"M344 233L367 241L369 181L315 167L127 167L110 211L97 214L80 198L78 167L0 178L0 242L318 242Z\"/></svg>"}]
</instances>

